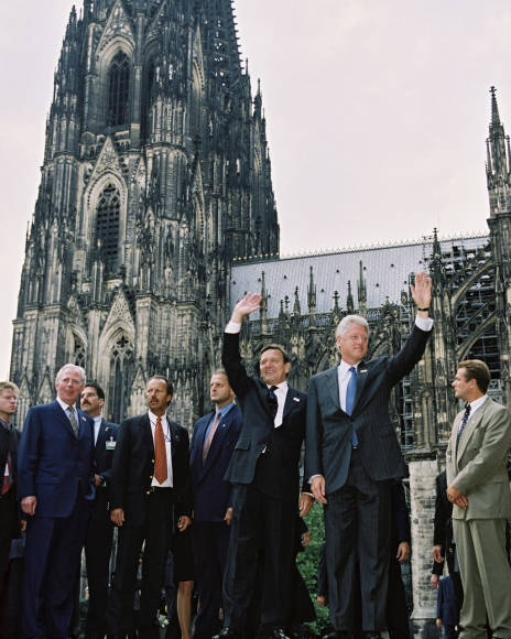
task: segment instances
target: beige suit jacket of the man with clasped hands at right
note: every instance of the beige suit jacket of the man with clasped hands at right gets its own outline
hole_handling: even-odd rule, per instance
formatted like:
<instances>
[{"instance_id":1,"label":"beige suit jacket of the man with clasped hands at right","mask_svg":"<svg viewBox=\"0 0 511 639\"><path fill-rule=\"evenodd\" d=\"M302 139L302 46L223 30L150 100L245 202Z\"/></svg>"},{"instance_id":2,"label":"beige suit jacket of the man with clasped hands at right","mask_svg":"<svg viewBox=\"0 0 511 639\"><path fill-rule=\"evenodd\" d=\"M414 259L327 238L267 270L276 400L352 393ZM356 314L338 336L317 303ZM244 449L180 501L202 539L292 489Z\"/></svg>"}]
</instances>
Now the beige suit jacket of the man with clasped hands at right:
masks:
<instances>
[{"instance_id":1,"label":"beige suit jacket of the man with clasped hands at right","mask_svg":"<svg viewBox=\"0 0 511 639\"><path fill-rule=\"evenodd\" d=\"M505 469L511 442L511 414L488 398L468 421L456 445L465 411L453 424L446 454L447 486L454 484L468 498L466 510L454 505L454 519L511 517L511 490Z\"/></svg>"}]
</instances>

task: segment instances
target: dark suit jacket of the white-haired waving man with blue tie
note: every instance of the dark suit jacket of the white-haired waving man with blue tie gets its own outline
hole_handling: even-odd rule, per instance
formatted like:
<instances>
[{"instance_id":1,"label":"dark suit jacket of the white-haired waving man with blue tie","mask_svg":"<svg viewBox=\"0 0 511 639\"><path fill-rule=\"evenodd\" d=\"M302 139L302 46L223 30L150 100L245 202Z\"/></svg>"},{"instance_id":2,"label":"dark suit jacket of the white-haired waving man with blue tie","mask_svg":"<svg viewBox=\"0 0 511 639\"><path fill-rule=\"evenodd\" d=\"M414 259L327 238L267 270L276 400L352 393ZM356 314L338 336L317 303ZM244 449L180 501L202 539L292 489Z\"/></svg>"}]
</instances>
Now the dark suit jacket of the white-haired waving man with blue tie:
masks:
<instances>
[{"instance_id":1,"label":"dark suit jacket of the white-haired waving man with blue tie","mask_svg":"<svg viewBox=\"0 0 511 639\"><path fill-rule=\"evenodd\" d=\"M346 483L354 427L365 470L371 479L381 481L406 475L389 415L389 396L392 387L421 359L430 334L414 326L395 357L360 362L351 415L340 408L337 366L311 378L305 476L323 475L327 494L339 490Z\"/></svg>"}]
</instances>

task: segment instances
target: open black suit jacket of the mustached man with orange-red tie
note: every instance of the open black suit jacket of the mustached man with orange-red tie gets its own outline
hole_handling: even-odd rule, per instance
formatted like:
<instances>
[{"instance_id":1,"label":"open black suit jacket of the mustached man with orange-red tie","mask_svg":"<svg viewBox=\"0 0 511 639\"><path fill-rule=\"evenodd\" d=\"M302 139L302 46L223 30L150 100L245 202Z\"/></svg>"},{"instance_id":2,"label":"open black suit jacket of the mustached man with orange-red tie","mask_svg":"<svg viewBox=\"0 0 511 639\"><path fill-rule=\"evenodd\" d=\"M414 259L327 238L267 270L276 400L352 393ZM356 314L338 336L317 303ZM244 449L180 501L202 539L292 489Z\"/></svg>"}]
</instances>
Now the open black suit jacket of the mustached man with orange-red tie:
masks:
<instances>
[{"instance_id":1,"label":"open black suit jacket of the mustached man with orange-red tie","mask_svg":"<svg viewBox=\"0 0 511 639\"><path fill-rule=\"evenodd\" d=\"M167 418L168 420L168 418ZM188 433L168 420L174 503L191 516ZM154 475L154 444L148 413L124 420L119 429L110 475L110 510L122 508L126 524L141 526Z\"/></svg>"}]
</instances>

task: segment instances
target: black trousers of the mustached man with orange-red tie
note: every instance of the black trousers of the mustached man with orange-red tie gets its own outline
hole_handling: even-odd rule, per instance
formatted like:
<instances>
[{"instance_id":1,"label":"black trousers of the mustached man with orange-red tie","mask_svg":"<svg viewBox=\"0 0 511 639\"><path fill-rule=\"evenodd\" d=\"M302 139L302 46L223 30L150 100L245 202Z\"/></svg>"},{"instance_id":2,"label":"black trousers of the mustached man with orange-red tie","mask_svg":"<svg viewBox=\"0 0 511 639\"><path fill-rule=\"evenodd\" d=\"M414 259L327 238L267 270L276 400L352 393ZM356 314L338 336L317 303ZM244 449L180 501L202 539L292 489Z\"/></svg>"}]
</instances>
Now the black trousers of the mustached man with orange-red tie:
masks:
<instances>
[{"instance_id":1,"label":"black trousers of the mustached man with orange-red tie","mask_svg":"<svg viewBox=\"0 0 511 639\"><path fill-rule=\"evenodd\" d=\"M111 635L128 635L134 629L133 600L137 571L144 541L138 626L144 639L155 633L154 622L172 537L172 488L155 488L146 499L146 512L142 524L124 523L119 529L116 573L107 610Z\"/></svg>"}]
</instances>

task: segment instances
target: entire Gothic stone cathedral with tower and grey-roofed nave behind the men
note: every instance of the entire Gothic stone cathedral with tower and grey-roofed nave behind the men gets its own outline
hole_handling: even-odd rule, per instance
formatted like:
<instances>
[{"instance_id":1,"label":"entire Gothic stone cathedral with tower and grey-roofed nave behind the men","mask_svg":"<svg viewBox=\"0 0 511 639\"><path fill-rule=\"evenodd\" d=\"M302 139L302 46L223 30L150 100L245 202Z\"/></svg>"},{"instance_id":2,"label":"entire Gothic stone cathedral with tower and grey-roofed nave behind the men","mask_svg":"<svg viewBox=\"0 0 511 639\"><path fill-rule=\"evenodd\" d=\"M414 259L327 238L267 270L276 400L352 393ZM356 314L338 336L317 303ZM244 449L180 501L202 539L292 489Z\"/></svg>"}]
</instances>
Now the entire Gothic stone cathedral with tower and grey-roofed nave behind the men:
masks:
<instances>
[{"instance_id":1,"label":"entire Gothic stone cathedral with tower and grey-roofed nave behind the men","mask_svg":"<svg viewBox=\"0 0 511 639\"><path fill-rule=\"evenodd\" d=\"M456 362L485 359L509 402L510 148L491 90L489 234L281 259L259 88L242 64L231 0L84 0L70 12L46 123L42 178L14 320L19 422L51 401L57 369L84 366L106 389L106 418L144 409L153 373L174 383L183 425L209 409L232 304L263 296L242 329L252 366L267 342L306 389L336 361L347 313L371 327L369 355L392 354L414 321L409 284L434 278L428 350L392 398L410 466L413 618L435 616L434 480L457 412Z\"/></svg>"}]
</instances>

